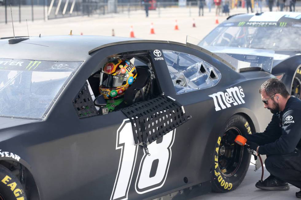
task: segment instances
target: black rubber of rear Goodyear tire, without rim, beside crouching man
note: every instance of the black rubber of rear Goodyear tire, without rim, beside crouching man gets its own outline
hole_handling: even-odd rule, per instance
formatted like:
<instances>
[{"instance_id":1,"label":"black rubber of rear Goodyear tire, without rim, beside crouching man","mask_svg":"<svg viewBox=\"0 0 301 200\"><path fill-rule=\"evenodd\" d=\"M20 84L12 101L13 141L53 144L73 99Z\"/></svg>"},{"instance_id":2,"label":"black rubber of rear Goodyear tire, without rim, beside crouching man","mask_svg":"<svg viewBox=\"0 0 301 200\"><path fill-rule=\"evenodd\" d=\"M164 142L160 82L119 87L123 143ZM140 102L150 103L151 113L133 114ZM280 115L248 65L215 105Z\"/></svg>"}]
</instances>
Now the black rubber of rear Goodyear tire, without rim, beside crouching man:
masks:
<instances>
[{"instance_id":1,"label":"black rubber of rear Goodyear tire, without rim, beside crouching man","mask_svg":"<svg viewBox=\"0 0 301 200\"><path fill-rule=\"evenodd\" d=\"M221 131L221 134L217 138L214 148L214 157L213 157L213 173L212 173L212 189L214 192L228 192L236 189L240 183L243 181L244 176L246 175L251 159L251 154L248 153L247 149L243 149L242 160L240 166L232 176L225 176L221 172L220 167L218 166L218 151L220 147L220 141L225 132L231 128L236 127L240 130L241 134L244 136L246 134L252 134L250 124L247 119L241 115L233 115L224 126L224 129Z\"/></svg>"}]
</instances>

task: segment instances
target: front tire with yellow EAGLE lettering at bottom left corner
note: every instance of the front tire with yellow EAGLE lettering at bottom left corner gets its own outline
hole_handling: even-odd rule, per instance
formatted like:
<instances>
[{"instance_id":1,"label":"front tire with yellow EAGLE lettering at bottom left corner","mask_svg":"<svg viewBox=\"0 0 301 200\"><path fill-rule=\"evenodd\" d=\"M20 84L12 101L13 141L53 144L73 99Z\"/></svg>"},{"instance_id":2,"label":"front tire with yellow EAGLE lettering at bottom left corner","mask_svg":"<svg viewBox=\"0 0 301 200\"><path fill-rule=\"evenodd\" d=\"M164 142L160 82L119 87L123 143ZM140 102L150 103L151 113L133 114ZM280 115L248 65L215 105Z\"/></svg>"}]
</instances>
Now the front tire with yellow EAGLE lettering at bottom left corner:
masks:
<instances>
[{"instance_id":1,"label":"front tire with yellow EAGLE lettering at bottom left corner","mask_svg":"<svg viewBox=\"0 0 301 200\"><path fill-rule=\"evenodd\" d=\"M0 165L0 200L26 200L19 179L10 170Z\"/></svg>"}]
</instances>

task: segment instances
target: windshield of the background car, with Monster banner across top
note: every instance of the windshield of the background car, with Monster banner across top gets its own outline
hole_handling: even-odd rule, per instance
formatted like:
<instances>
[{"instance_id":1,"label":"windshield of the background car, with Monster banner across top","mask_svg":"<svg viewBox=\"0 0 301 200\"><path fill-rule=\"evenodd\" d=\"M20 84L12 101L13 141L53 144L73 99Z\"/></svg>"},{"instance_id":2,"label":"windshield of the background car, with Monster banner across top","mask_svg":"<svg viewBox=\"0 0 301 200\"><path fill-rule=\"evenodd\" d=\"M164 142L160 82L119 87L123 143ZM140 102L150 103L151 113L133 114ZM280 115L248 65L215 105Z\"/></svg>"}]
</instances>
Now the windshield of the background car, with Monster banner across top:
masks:
<instances>
[{"instance_id":1,"label":"windshield of the background car, with Monster banner across top","mask_svg":"<svg viewBox=\"0 0 301 200\"><path fill-rule=\"evenodd\" d=\"M300 50L301 23L222 23L199 46L247 47L272 50Z\"/></svg>"}]
</instances>

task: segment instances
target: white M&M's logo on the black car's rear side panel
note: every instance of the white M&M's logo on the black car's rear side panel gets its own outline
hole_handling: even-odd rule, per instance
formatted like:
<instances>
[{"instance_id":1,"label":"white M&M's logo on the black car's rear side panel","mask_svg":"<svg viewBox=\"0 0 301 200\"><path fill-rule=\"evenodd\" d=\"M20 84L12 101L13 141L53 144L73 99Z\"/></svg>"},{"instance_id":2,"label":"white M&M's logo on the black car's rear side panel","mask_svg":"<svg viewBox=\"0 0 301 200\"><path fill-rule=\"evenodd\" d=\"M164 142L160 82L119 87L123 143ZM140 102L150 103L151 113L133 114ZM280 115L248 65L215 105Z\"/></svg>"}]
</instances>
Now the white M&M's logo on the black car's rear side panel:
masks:
<instances>
[{"instance_id":1,"label":"white M&M's logo on the black car's rear side panel","mask_svg":"<svg viewBox=\"0 0 301 200\"><path fill-rule=\"evenodd\" d=\"M233 106L236 106L238 104L245 103L243 100L244 91L241 88L241 86L229 88L226 89L226 91L227 92L217 92L212 95L209 95L213 98L215 111L220 111L221 109L229 108L231 107L231 104L233 104Z\"/></svg>"}]
</instances>

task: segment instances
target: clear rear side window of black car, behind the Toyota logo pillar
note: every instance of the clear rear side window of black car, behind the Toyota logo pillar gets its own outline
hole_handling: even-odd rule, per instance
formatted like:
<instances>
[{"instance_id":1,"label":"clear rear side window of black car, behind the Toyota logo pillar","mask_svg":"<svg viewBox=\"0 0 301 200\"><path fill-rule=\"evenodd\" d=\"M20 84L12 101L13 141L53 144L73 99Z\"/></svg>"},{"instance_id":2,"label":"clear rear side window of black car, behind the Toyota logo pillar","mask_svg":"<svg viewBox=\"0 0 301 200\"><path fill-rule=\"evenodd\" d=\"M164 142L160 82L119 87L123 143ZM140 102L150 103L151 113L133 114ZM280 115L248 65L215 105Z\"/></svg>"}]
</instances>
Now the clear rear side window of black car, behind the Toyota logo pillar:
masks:
<instances>
[{"instance_id":1,"label":"clear rear side window of black car, behind the Toyota logo pillar","mask_svg":"<svg viewBox=\"0 0 301 200\"><path fill-rule=\"evenodd\" d=\"M163 54L177 94L213 87L221 79L221 73L201 58L169 50Z\"/></svg>"}]
</instances>

